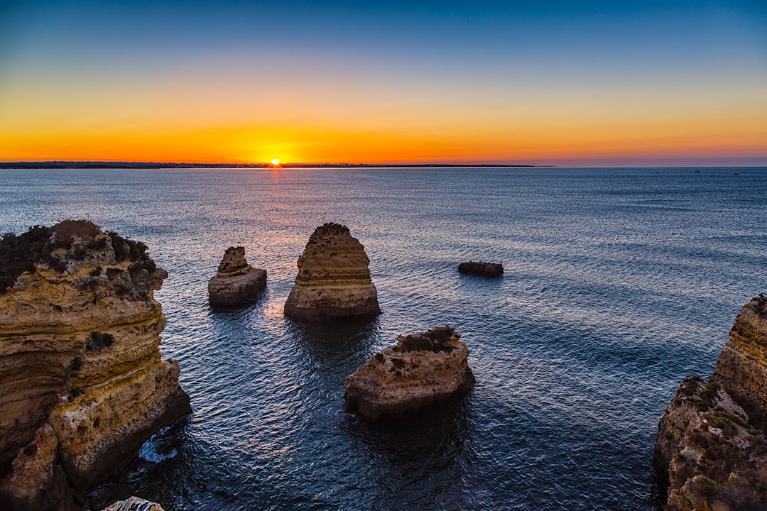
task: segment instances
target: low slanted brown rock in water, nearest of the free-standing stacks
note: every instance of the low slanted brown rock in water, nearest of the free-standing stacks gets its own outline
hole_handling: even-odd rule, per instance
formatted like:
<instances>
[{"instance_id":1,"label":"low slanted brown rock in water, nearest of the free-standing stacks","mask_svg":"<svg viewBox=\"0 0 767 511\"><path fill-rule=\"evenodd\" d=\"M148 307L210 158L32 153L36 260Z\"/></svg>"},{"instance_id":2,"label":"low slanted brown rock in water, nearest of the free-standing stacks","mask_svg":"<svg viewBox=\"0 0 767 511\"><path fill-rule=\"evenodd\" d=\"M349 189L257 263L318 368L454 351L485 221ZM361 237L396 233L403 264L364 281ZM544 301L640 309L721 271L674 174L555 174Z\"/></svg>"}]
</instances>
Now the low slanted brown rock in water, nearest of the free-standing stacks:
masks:
<instances>
[{"instance_id":1,"label":"low slanted brown rock in water, nearest of the free-standing stacks","mask_svg":"<svg viewBox=\"0 0 767 511\"><path fill-rule=\"evenodd\" d=\"M449 326L397 337L344 380L347 411L370 421L398 418L466 391L474 375L459 339Z\"/></svg>"}]
</instances>

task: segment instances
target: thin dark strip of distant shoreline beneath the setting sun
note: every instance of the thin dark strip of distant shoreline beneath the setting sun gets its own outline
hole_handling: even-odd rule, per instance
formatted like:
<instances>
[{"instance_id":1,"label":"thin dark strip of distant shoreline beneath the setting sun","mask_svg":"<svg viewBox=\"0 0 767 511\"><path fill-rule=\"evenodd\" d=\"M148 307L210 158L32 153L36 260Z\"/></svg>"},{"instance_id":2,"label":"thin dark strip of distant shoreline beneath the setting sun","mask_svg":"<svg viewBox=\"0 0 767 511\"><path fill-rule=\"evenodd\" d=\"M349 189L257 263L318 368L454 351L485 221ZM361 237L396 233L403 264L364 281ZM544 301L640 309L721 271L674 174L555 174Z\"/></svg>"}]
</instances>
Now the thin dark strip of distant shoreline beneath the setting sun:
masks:
<instances>
[{"instance_id":1,"label":"thin dark strip of distant shoreline beneath the setting sun","mask_svg":"<svg viewBox=\"0 0 767 511\"><path fill-rule=\"evenodd\" d=\"M389 167L552 167L495 163L158 163L158 162L0 162L0 169L367 169Z\"/></svg>"}]
</instances>

